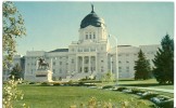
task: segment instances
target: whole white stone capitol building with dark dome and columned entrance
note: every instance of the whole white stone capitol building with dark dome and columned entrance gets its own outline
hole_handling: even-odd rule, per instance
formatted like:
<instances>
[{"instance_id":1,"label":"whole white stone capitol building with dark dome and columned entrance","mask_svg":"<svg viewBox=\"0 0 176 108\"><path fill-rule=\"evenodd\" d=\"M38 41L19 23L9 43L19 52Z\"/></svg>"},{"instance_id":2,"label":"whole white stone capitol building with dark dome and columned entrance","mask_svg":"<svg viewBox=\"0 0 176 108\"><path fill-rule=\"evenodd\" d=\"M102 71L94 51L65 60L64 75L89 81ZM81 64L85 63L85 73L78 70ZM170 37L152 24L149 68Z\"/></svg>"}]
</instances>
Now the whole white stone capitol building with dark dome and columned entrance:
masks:
<instances>
[{"instance_id":1,"label":"whole white stone capitol building with dark dome and columned entrance","mask_svg":"<svg viewBox=\"0 0 176 108\"><path fill-rule=\"evenodd\" d=\"M49 63L53 81L89 77L99 80L109 71L120 79L129 79L135 77L134 66L139 50L142 50L152 67L152 59L160 48L160 44L112 46L105 23L95 12L93 6L80 22L78 32L78 40L73 41L68 49L50 52L27 51L23 62L24 80L35 81L37 62L40 57Z\"/></svg>"}]
</instances>

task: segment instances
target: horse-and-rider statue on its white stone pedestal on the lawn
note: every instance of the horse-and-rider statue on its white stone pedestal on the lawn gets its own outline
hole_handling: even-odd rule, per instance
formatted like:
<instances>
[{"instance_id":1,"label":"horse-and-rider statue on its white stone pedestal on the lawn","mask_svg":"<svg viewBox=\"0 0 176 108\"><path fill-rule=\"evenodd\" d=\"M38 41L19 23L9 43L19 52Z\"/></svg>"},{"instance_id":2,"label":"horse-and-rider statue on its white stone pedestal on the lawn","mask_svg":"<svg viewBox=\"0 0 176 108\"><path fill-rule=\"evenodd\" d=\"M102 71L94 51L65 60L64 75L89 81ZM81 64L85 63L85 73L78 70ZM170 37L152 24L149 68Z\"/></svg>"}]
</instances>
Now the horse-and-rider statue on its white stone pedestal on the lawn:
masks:
<instances>
[{"instance_id":1,"label":"horse-and-rider statue on its white stone pedestal on the lawn","mask_svg":"<svg viewBox=\"0 0 176 108\"><path fill-rule=\"evenodd\" d=\"M49 63L46 63L45 58L37 60L36 67L36 82L51 82L52 71L49 69Z\"/></svg>"}]
</instances>

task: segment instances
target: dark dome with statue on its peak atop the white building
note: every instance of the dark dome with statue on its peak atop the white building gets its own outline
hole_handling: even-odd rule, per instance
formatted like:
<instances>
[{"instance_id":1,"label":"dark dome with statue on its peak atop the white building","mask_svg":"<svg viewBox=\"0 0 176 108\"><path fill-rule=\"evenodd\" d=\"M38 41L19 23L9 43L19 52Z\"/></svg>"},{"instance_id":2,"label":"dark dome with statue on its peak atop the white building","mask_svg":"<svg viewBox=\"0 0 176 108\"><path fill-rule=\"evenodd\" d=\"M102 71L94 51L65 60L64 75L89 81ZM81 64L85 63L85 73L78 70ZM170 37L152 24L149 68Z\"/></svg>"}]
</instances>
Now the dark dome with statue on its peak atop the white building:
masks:
<instances>
[{"instance_id":1,"label":"dark dome with statue on its peak atop the white building","mask_svg":"<svg viewBox=\"0 0 176 108\"><path fill-rule=\"evenodd\" d=\"M85 27L87 27L89 25L95 26L95 27L101 27L102 25L104 25L104 21L95 13L93 5L92 5L91 13L89 13L81 21L80 28L85 28Z\"/></svg>"}]
</instances>

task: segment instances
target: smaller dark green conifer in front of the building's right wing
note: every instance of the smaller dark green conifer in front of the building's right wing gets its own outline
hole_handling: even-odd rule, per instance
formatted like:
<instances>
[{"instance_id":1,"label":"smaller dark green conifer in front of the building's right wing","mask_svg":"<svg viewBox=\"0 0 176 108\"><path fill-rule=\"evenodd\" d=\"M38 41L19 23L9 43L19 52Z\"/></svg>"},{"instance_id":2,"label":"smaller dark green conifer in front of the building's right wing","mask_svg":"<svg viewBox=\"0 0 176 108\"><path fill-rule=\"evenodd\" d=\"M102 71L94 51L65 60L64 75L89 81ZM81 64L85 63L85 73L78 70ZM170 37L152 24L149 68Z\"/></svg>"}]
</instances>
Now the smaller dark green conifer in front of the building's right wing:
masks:
<instances>
[{"instance_id":1,"label":"smaller dark green conifer in front of the building's right wing","mask_svg":"<svg viewBox=\"0 0 176 108\"><path fill-rule=\"evenodd\" d=\"M150 63L147 60L144 53L140 50L138 60L135 62L135 80L149 79L151 76Z\"/></svg>"}]
</instances>

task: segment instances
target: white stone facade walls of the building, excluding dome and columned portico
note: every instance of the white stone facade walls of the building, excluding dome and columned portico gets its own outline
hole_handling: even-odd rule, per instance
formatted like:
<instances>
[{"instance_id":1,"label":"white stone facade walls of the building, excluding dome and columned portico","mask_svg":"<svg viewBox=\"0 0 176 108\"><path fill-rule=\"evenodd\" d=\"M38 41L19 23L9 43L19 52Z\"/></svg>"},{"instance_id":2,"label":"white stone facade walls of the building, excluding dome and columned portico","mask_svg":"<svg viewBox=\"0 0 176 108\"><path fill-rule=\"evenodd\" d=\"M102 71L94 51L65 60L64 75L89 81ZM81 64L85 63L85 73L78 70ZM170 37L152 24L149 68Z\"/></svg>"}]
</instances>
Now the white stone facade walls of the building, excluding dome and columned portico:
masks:
<instances>
[{"instance_id":1,"label":"white stone facade walls of the building, excluding dome and columned portico","mask_svg":"<svg viewBox=\"0 0 176 108\"><path fill-rule=\"evenodd\" d=\"M97 58L97 78L100 78L101 75L111 71L112 65L112 72L116 73L116 51L115 48L111 50L111 52L105 51L104 44L92 44L95 45L96 51L92 52L80 52L78 48L85 49L86 45L77 44L77 45L70 45L71 49L74 51L70 52L54 52L54 53L46 53L46 52L28 52L26 55L25 62L25 80L33 80L35 70L36 70L36 60L40 56L46 56L46 60L51 66L52 59L52 72L53 72L53 80L59 80L60 78L66 78L66 75L75 73L76 72L76 56L96 56ZM88 48L90 45L87 45ZM103 48L103 49L101 49ZM138 52L141 49L142 52L146 54L147 59L150 59L151 67L153 66L152 59L154 58L154 54L158 51L160 45L140 45L140 46L118 46L118 76L120 79L128 79L134 78L134 66L135 60L138 59ZM112 57L112 59L111 59ZM81 65L81 63L77 64ZM88 64L87 64L88 65ZM78 66L77 69L79 69ZM78 70L77 70L78 71Z\"/></svg>"}]
</instances>

